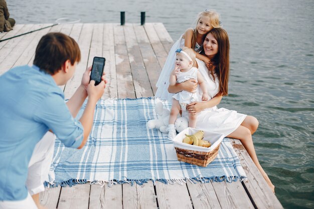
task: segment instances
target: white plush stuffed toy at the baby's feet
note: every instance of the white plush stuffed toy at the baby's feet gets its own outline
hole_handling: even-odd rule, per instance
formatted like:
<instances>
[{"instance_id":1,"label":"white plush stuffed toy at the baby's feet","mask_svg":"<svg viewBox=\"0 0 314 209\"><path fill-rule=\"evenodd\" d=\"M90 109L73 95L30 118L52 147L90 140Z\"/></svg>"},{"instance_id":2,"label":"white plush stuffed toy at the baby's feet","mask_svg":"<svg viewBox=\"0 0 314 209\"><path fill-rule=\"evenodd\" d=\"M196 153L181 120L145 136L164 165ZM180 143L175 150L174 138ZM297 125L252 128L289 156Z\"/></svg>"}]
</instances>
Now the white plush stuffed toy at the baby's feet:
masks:
<instances>
[{"instance_id":1,"label":"white plush stuffed toy at the baby's feet","mask_svg":"<svg viewBox=\"0 0 314 209\"><path fill-rule=\"evenodd\" d=\"M157 128L163 133L168 133L169 125L169 116L170 110L164 108L162 102L156 103L155 112L158 116L158 119L152 119L147 122L147 127L149 129ZM175 126L178 132L181 132L183 129L188 127L188 119L185 117L178 117Z\"/></svg>"}]
</instances>

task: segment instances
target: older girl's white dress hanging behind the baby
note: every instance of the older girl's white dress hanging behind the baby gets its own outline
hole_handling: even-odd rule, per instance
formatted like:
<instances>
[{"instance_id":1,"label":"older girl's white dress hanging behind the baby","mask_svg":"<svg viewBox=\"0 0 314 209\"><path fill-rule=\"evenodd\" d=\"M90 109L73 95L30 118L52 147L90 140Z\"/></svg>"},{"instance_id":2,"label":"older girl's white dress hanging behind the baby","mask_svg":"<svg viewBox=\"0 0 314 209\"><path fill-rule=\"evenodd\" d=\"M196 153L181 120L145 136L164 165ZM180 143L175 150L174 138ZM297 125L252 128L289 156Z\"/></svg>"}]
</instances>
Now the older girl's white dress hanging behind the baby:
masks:
<instances>
[{"instance_id":1,"label":"older girl's white dress hanging behind the baby","mask_svg":"<svg viewBox=\"0 0 314 209\"><path fill-rule=\"evenodd\" d=\"M172 46L171 50L169 51L162 73L159 76L159 79L156 83L156 87L158 89L156 91L155 97L159 97L161 100L168 100L169 104L172 103L173 99L172 97L174 95L168 92L169 77L171 72L175 69L176 50L184 47L185 40L182 38L182 36L179 38L178 41L176 41L176 43ZM200 48L201 46L198 43L196 43L194 50L198 52Z\"/></svg>"}]
</instances>

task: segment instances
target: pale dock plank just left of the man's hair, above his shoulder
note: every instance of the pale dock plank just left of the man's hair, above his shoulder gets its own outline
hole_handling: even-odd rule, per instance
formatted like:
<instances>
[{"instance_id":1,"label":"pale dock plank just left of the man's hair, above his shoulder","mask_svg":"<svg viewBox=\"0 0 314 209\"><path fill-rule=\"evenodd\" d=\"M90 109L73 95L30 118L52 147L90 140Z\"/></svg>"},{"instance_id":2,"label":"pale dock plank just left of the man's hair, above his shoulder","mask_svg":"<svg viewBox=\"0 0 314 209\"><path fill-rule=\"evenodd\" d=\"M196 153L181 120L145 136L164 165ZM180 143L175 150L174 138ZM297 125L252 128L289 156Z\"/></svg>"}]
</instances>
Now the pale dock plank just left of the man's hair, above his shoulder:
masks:
<instances>
[{"instance_id":1,"label":"pale dock plank just left of the man's hair, above his shoulder","mask_svg":"<svg viewBox=\"0 0 314 209\"><path fill-rule=\"evenodd\" d=\"M35 27L33 29L36 30L36 29L40 29L40 28L45 27L45 26L47 26L47 25L38 24L38 25L35 25ZM27 64L29 62L29 60L25 60L24 59L25 57L24 56L22 57L22 55L24 54L25 51L28 53L29 48L31 48L32 44L34 43L34 40L37 41L36 38L37 38L38 34L43 35L43 34L47 33L48 31L49 31L49 29L45 29L45 30L34 32L32 34L25 35L25 38L23 39L23 41L21 41L14 49L12 49L12 51L8 54L7 58L1 63L0 74L11 69L18 60L22 59L24 64ZM36 46L35 46L35 48L36 48ZM34 51L35 51L35 49L34 49Z\"/></svg>"}]
</instances>

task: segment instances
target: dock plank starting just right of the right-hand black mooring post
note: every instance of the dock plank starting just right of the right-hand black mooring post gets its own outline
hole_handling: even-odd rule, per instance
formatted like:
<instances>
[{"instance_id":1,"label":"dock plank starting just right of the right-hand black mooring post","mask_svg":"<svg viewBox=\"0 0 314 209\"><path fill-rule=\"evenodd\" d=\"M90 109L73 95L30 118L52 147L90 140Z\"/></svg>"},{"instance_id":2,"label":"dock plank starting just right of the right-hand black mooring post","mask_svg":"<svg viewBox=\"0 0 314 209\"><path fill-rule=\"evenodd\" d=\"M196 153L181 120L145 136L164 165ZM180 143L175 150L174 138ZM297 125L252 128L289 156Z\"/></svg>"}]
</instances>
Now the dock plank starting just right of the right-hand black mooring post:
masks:
<instances>
[{"instance_id":1,"label":"dock plank starting just right of the right-hand black mooring post","mask_svg":"<svg viewBox=\"0 0 314 209\"><path fill-rule=\"evenodd\" d=\"M144 25L146 34L149 38L149 41L151 43L152 49L158 59L158 62L161 66L161 68L164 67L167 56L168 56L168 51L165 50L162 42L160 41L157 32L155 31L153 24L148 23Z\"/></svg>"}]
</instances>

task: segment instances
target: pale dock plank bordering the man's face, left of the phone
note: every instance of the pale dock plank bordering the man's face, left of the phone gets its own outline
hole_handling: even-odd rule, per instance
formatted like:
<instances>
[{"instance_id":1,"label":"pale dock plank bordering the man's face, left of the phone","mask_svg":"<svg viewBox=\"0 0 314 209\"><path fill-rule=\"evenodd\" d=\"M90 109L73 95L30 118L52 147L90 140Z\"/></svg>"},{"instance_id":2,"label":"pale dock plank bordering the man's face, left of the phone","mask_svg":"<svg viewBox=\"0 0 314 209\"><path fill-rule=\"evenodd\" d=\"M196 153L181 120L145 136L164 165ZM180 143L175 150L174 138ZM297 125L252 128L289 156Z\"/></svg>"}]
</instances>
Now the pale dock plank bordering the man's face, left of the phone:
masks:
<instances>
[{"instance_id":1,"label":"pale dock plank bordering the man's face, left of the phone","mask_svg":"<svg viewBox=\"0 0 314 209\"><path fill-rule=\"evenodd\" d=\"M84 24L82 31L92 32L92 24ZM72 97L76 89L80 86L82 75L87 68L89 49L92 41L92 33L80 33L78 45L81 50L81 62L76 66L76 72L74 76L67 82L64 90L65 99Z\"/></svg>"}]
</instances>

